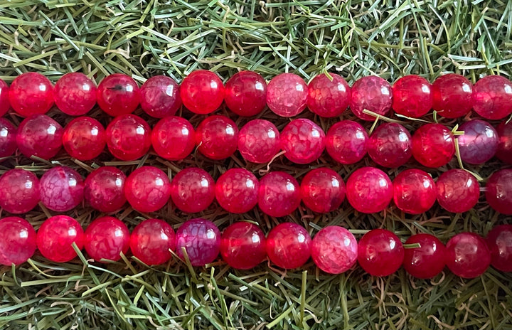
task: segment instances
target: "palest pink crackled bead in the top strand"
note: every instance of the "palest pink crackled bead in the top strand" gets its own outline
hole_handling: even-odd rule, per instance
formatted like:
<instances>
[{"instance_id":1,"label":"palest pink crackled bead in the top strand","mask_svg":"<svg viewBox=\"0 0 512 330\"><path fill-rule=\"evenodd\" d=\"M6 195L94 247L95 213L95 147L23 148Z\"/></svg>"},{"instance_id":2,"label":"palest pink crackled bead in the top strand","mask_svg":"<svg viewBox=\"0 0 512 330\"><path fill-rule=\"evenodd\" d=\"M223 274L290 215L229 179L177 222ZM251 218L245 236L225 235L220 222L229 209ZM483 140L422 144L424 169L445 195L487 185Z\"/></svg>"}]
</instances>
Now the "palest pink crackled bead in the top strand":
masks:
<instances>
[{"instance_id":1,"label":"palest pink crackled bead in the top strand","mask_svg":"<svg viewBox=\"0 0 512 330\"><path fill-rule=\"evenodd\" d=\"M294 73L281 73L267 86L267 105L278 116L294 117L306 108L307 93L304 79Z\"/></svg>"}]
</instances>

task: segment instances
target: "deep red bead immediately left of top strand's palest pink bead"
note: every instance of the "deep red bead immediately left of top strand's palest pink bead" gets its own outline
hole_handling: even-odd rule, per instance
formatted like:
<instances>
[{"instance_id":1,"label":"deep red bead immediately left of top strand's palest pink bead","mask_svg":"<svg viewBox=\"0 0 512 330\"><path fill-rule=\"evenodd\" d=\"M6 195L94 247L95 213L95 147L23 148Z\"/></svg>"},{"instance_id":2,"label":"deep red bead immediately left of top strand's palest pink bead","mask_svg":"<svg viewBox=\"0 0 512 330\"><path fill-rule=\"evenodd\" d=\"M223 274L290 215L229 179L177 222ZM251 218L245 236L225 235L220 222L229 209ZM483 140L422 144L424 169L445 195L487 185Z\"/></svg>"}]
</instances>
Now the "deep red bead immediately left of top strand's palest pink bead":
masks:
<instances>
[{"instance_id":1,"label":"deep red bead immediately left of top strand's palest pink bead","mask_svg":"<svg viewBox=\"0 0 512 330\"><path fill-rule=\"evenodd\" d=\"M239 116L255 116L267 105L267 82L252 71L235 73L226 82L224 101Z\"/></svg>"}]
</instances>

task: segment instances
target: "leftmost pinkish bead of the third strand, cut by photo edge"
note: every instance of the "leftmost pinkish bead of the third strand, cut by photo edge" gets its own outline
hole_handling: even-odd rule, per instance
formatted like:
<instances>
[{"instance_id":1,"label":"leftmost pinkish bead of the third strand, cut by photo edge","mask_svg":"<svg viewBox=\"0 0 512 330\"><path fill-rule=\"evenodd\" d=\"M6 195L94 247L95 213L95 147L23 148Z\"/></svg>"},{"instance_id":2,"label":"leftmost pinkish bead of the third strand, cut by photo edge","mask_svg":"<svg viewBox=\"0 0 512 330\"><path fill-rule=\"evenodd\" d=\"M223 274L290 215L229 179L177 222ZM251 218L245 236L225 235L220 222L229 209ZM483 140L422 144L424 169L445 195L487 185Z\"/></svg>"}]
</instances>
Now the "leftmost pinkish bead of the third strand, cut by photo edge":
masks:
<instances>
[{"instance_id":1,"label":"leftmost pinkish bead of the third strand, cut by photo edge","mask_svg":"<svg viewBox=\"0 0 512 330\"><path fill-rule=\"evenodd\" d=\"M14 214L27 213L39 203L39 180L31 171L11 169L0 177L0 206Z\"/></svg>"}]
</instances>

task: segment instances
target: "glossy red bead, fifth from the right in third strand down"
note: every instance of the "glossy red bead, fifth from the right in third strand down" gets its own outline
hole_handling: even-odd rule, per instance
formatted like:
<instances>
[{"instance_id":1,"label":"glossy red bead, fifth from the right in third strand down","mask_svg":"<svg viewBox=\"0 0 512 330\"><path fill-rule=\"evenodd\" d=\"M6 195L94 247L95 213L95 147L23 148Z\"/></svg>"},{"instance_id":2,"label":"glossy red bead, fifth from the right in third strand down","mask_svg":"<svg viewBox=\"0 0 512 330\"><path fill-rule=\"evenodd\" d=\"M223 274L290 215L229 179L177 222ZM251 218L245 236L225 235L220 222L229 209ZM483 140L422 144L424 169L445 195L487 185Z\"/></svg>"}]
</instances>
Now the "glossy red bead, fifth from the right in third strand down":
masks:
<instances>
[{"instance_id":1,"label":"glossy red bead, fifth from the right in third strand down","mask_svg":"<svg viewBox=\"0 0 512 330\"><path fill-rule=\"evenodd\" d=\"M312 169L304 176L300 193L302 203L311 211L332 212L345 199L345 183L336 171L321 167Z\"/></svg>"}]
</instances>

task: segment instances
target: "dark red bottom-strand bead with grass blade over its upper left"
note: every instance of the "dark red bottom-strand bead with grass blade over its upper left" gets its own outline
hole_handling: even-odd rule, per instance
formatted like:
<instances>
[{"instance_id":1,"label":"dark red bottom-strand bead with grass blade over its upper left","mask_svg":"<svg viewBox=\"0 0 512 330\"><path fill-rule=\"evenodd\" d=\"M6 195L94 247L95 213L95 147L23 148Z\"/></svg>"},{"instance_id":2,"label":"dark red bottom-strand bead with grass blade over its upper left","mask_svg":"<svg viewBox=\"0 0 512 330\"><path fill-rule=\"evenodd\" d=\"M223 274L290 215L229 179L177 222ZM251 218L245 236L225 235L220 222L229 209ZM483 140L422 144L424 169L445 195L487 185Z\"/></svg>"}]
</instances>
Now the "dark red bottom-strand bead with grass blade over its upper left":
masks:
<instances>
[{"instance_id":1,"label":"dark red bottom-strand bead with grass blade over its upper left","mask_svg":"<svg viewBox=\"0 0 512 330\"><path fill-rule=\"evenodd\" d=\"M430 279L442 272L447 261L447 251L439 239L429 234L417 234L412 235L405 244L420 245L405 249L403 266L410 275Z\"/></svg>"}]
</instances>

